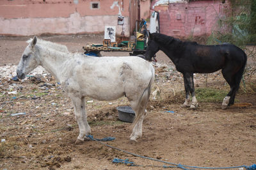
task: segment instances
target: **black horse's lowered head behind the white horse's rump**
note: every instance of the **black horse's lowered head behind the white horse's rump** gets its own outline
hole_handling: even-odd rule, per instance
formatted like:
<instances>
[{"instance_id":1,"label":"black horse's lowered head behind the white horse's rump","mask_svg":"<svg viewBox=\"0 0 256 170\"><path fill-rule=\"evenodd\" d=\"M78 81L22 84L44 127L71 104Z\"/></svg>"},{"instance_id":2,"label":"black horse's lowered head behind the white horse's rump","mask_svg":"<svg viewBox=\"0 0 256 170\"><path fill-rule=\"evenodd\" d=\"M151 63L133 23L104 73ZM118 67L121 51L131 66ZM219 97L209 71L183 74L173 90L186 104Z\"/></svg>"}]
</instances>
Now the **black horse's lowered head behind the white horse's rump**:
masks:
<instances>
[{"instance_id":1,"label":"black horse's lowered head behind the white horse's rump","mask_svg":"<svg viewBox=\"0 0 256 170\"><path fill-rule=\"evenodd\" d=\"M145 58L148 61L152 61L152 57L159 51L159 45L154 40L154 34L149 33L148 43L147 43L147 50L145 53Z\"/></svg>"}]
</instances>

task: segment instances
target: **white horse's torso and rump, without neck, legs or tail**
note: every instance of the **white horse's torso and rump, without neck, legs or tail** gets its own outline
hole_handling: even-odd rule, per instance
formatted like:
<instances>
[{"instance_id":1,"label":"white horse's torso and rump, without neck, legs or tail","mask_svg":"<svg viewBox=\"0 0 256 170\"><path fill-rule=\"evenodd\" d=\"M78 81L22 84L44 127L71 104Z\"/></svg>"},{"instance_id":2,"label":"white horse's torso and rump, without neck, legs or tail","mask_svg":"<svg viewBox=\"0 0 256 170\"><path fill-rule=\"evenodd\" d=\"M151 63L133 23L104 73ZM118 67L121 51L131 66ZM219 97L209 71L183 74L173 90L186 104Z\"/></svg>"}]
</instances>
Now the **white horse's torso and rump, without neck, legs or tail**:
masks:
<instances>
[{"instance_id":1,"label":"white horse's torso and rump, without neck, legs or tail","mask_svg":"<svg viewBox=\"0 0 256 170\"><path fill-rule=\"evenodd\" d=\"M83 96L115 100L127 91L143 91L154 79L153 66L138 57L87 57L73 62L76 66L65 84ZM153 77L153 78L152 78Z\"/></svg>"}]
</instances>

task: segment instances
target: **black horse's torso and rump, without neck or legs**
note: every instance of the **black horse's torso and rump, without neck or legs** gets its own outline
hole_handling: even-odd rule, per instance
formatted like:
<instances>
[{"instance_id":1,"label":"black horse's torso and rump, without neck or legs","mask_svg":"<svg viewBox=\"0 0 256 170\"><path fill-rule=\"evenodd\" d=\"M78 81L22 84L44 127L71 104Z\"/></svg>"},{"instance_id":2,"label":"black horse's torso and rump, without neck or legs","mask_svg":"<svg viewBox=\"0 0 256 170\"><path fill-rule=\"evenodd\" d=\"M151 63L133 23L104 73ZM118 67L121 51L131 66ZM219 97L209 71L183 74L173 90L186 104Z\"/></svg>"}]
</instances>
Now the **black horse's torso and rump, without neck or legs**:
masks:
<instances>
[{"instance_id":1,"label":"black horse's torso and rump, without neck or legs","mask_svg":"<svg viewBox=\"0 0 256 170\"><path fill-rule=\"evenodd\" d=\"M230 43L221 45L188 43L182 53L177 68L180 72L212 73L232 63L241 65L246 62L244 51Z\"/></svg>"}]
</instances>

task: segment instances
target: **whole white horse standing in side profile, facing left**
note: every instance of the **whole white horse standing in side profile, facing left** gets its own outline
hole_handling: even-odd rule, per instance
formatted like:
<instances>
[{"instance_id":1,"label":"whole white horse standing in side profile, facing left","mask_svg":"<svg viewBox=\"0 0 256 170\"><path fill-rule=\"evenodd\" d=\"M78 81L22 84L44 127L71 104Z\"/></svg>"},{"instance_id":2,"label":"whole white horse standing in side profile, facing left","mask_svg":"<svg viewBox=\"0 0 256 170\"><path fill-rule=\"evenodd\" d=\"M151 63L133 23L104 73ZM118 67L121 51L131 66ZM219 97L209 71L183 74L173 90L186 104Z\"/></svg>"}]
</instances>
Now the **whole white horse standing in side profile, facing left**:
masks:
<instances>
[{"instance_id":1,"label":"whole white horse standing in side profile, facing left","mask_svg":"<svg viewBox=\"0 0 256 170\"><path fill-rule=\"evenodd\" d=\"M17 76L24 79L27 73L41 65L56 77L74 105L79 126L77 144L91 133L84 97L116 100L125 95L136 113L130 139L136 141L141 137L155 74L148 61L136 56L95 58L73 54L65 45L40 40L36 36L28 43L20 59Z\"/></svg>"}]
</instances>

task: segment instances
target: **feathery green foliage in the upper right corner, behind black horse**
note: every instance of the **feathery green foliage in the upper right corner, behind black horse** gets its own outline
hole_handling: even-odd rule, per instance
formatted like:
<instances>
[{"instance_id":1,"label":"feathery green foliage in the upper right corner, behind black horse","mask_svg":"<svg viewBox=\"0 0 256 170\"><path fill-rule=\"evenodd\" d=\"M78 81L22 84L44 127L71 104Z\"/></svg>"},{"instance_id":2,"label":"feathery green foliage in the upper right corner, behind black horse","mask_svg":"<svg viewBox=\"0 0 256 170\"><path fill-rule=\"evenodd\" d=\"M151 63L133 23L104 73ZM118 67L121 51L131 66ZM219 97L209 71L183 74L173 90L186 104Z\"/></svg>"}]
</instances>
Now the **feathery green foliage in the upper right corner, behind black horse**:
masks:
<instances>
[{"instance_id":1,"label":"feathery green foliage in the upper right corner, behind black horse","mask_svg":"<svg viewBox=\"0 0 256 170\"><path fill-rule=\"evenodd\" d=\"M207 44L233 43L244 49L256 43L256 0L230 0L230 9L218 20Z\"/></svg>"}]
</instances>

